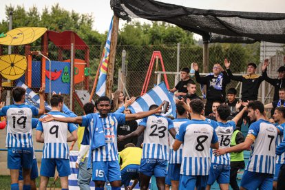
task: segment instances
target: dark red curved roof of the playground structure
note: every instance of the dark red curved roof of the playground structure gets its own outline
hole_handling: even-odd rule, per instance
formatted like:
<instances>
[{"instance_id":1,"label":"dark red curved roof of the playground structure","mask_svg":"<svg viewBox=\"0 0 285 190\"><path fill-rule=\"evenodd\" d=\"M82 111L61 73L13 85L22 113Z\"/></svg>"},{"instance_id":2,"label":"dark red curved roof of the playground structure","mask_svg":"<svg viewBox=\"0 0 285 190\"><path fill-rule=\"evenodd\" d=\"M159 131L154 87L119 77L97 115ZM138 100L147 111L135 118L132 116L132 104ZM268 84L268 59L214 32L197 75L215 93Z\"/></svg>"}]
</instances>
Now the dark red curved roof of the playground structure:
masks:
<instances>
[{"instance_id":1,"label":"dark red curved roof of the playground structure","mask_svg":"<svg viewBox=\"0 0 285 190\"><path fill-rule=\"evenodd\" d=\"M47 36L54 45L61 47L63 50L70 50L71 44L74 43L75 50L87 50L88 45L73 31L54 32L47 30ZM73 37L74 36L74 37ZM74 39L74 40L72 40Z\"/></svg>"}]
</instances>

